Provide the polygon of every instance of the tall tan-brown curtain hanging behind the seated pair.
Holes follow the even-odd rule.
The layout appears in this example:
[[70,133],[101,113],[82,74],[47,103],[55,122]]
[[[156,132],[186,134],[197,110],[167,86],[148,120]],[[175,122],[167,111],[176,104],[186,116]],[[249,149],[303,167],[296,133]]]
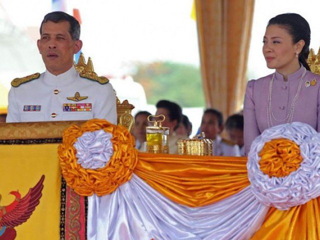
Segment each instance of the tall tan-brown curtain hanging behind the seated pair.
[[205,103],[227,116],[243,103],[254,0],[195,0]]

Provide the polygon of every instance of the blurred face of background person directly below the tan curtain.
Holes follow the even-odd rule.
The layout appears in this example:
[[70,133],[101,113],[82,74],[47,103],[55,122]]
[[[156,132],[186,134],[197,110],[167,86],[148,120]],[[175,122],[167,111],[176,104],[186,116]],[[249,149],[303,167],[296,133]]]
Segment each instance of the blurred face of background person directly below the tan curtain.
[[223,127],[219,126],[217,117],[212,113],[204,113],[201,120],[200,132],[204,132],[205,138],[214,140],[216,135],[222,131]]

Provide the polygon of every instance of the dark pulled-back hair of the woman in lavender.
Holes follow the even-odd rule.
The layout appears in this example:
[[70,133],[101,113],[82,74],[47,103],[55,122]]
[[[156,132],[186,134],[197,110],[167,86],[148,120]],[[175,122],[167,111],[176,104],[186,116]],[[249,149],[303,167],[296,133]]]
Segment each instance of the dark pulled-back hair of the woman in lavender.
[[309,65],[306,63],[306,59],[309,55],[310,46],[310,26],[309,23],[299,14],[296,13],[283,13],[272,17],[268,25],[280,25],[285,28],[292,36],[293,43],[297,43],[299,40],[304,40],[305,44],[299,53],[299,62],[307,69],[310,70]]

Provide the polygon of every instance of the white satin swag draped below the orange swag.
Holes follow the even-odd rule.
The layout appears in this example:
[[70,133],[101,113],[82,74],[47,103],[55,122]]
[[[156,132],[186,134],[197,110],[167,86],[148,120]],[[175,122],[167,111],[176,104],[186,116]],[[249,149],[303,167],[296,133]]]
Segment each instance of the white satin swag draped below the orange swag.
[[111,194],[88,197],[87,239],[247,239],[268,209],[250,187],[207,206],[180,205],[133,174]]

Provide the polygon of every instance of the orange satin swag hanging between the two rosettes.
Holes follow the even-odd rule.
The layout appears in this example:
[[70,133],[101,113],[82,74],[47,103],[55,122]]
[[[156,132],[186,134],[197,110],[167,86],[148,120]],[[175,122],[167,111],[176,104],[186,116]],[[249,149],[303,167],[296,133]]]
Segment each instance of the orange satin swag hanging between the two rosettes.
[[138,153],[134,173],[176,203],[208,205],[249,185],[246,157]]

